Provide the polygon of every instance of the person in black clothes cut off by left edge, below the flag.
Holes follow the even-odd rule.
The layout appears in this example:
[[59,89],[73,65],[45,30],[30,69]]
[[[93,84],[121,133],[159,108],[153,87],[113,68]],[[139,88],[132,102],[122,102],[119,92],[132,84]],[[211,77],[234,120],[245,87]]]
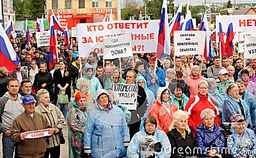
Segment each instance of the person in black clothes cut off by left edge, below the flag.
[[8,69],[2,66],[0,68],[0,97],[3,97],[5,92],[8,91],[8,80],[10,80],[10,77],[8,77]]

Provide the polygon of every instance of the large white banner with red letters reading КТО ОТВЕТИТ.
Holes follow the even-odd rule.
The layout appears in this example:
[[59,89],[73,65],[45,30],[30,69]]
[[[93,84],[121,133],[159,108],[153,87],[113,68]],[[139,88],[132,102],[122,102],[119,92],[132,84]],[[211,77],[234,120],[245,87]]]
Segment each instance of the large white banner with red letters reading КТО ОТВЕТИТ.
[[156,52],[158,20],[128,21],[77,24],[80,57],[88,57],[90,52],[103,55],[105,36],[120,36],[131,33],[133,53]]

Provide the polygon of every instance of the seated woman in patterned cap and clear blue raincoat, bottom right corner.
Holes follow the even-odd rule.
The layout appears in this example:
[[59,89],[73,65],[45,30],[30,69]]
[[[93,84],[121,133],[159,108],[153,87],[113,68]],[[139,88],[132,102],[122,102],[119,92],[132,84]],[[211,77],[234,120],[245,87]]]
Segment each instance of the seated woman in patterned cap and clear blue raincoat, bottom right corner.
[[232,151],[233,157],[256,157],[256,136],[255,133],[245,127],[244,116],[233,115],[231,122],[237,122],[236,127],[232,127],[232,135],[228,136],[227,147]]

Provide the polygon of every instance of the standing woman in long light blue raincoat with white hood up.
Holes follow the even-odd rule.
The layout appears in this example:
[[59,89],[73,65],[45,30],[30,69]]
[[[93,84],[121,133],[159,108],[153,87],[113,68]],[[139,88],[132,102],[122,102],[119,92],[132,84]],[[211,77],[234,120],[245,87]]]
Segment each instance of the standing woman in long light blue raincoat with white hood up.
[[84,152],[92,157],[125,157],[130,134],[123,111],[104,89],[95,94],[84,129]]

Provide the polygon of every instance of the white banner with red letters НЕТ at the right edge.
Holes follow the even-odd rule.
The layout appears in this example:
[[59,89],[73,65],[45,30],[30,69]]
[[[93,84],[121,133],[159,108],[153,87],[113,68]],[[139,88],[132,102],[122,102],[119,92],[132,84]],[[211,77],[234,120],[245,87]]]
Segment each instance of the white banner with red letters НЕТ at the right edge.
[[231,22],[234,32],[233,42],[238,42],[239,32],[255,32],[256,30],[256,15],[216,15],[216,32],[219,31],[219,22],[222,25],[224,41],[226,41],[228,25]]

